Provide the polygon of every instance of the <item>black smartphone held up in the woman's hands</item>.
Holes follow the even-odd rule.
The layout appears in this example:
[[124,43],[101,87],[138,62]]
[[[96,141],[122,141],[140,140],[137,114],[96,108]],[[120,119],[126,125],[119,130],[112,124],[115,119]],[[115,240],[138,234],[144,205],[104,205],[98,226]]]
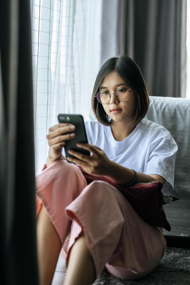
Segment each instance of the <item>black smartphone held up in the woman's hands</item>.
[[70,123],[75,125],[74,131],[69,132],[75,133],[75,137],[69,140],[65,140],[64,150],[66,158],[67,156],[75,157],[68,153],[69,149],[73,149],[77,152],[81,152],[90,156],[90,152],[87,149],[76,146],[77,143],[88,143],[83,116],[80,114],[59,114],[58,121],[59,123]]

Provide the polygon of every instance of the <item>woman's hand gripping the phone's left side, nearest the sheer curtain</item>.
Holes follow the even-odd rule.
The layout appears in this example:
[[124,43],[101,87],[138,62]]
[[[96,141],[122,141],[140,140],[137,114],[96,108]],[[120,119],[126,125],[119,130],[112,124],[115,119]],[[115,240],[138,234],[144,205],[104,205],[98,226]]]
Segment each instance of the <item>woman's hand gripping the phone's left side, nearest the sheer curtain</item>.
[[57,159],[61,155],[65,141],[75,137],[75,133],[71,136],[75,126],[73,129],[70,129],[71,126],[72,124],[69,123],[59,123],[49,129],[49,134],[46,137],[50,146],[49,156],[52,160]]

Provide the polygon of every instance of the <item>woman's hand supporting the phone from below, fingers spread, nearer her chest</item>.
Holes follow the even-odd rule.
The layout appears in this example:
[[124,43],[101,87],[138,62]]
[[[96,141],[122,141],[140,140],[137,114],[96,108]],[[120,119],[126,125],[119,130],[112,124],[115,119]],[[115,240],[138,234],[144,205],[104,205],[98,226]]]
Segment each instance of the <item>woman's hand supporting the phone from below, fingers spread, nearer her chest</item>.
[[88,156],[87,154],[82,154],[74,150],[69,150],[68,152],[72,156],[76,157],[73,158],[67,156],[67,159],[69,161],[80,165],[85,172],[94,176],[102,176],[107,175],[109,173],[109,165],[111,161],[105,155],[105,152],[103,152],[101,148],[90,143],[77,143],[76,146],[87,149],[89,152],[92,152],[92,156]]

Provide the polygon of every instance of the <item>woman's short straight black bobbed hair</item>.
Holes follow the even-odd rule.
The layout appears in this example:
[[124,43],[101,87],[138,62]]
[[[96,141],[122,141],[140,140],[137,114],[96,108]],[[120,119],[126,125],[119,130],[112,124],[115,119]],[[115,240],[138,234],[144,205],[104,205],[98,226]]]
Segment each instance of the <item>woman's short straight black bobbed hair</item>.
[[116,71],[124,82],[134,90],[137,95],[137,109],[134,113],[132,124],[137,124],[145,117],[150,105],[148,90],[142,75],[142,72],[132,58],[125,54],[109,58],[100,68],[96,81],[94,83],[91,106],[98,122],[105,126],[111,125],[109,116],[105,113],[101,103],[98,102],[95,95],[99,91],[104,77],[112,71]]

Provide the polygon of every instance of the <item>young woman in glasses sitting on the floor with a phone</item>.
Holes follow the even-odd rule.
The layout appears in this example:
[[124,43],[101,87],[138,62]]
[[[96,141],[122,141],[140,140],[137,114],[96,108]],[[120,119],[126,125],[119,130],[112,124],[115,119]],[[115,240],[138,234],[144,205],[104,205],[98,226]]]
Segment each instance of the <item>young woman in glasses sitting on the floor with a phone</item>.
[[144,119],[148,107],[138,65],[120,55],[102,65],[94,84],[96,121],[85,122],[89,144],[78,145],[92,156],[70,152],[75,158],[67,157],[68,163],[62,147],[75,127],[62,123],[49,129],[47,168],[36,176],[41,284],[51,284],[60,251],[67,265],[64,285],[92,284],[104,268],[137,279],[163,257],[162,228],[142,220],[109,183],[87,185],[80,170],[119,184],[161,180],[163,187],[173,187],[178,147],[169,131]]

